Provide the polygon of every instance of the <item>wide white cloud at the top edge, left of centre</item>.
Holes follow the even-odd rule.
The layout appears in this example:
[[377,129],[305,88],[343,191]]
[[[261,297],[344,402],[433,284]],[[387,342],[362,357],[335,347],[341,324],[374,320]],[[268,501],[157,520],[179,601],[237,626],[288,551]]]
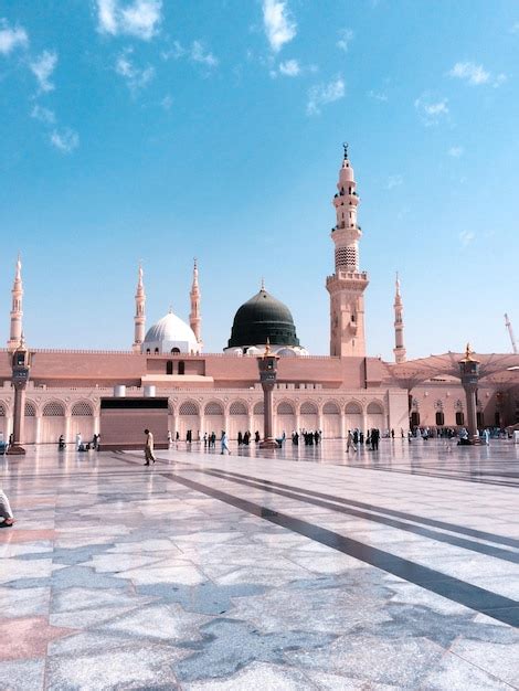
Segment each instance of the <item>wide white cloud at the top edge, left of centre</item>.
[[97,0],[98,30],[113,36],[129,35],[149,41],[162,21],[162,0]]

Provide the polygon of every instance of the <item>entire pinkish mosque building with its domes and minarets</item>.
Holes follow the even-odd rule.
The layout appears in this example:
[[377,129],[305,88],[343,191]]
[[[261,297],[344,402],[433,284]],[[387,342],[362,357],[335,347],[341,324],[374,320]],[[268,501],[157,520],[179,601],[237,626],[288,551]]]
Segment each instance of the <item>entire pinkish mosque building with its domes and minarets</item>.
[[[264,398],[257,357],[279,357],[274,391],[274,432],[320,429],[339,438],[348,429],[393,428],[396,436],[416,425],[465,424],[466,398],[459,381],[460,353],[407,361],[400,279],[394,297],[394,362],[367,354],[364,291],[360,268],[362,231],[359,195],[345,147],[331,230],[335,270],[326,279],[330,296],[330,353],[311,355],[300,343],[289,308],[262,284],[236,311],[221,353],[203,353],[199,267],[193,267],[189,323],[170,308],[146,329],[146,289],[139,267],[135,294],[134,342],[126,352],[28,348],[32,354],[24,405],[24,444],[55,444],[77,432],[87,439],[99,430],[100,398],[115,389],[127,397],[157,392],[168,398],[168,426],[182,439],[204,432],[263,430]],[[10,336],[0,351],[0,434],[12,430],[14,394],[11,357],[23,339],[23,283],[20,257],[12,287]],[[230,325],[231,326],[231,325]],[[478,425],[519,421],[519,355],[478,354]]]

